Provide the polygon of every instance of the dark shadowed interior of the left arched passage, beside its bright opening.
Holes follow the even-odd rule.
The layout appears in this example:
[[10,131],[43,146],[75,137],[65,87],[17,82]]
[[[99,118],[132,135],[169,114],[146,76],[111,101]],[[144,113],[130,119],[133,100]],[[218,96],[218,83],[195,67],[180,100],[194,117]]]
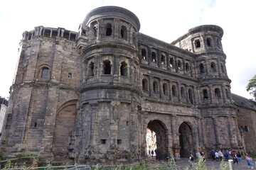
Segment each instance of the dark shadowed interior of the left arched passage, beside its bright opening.
[[156,146],[154,148],[156,148],[156,159],[166,160],[168,157],[166,125],[160,120],[152,120],[149,122],[147,128],[155,133]]

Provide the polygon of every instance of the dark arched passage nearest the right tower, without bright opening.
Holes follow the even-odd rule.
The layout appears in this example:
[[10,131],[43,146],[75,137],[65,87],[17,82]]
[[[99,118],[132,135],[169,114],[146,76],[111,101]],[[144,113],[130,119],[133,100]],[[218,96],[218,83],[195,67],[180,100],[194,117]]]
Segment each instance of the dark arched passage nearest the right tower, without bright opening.
[[180,142],[180,155],[181,157],[189,157],[193,154],[193,135],[191,127],[188,123],[181,123],[178,128],[179,142]]

